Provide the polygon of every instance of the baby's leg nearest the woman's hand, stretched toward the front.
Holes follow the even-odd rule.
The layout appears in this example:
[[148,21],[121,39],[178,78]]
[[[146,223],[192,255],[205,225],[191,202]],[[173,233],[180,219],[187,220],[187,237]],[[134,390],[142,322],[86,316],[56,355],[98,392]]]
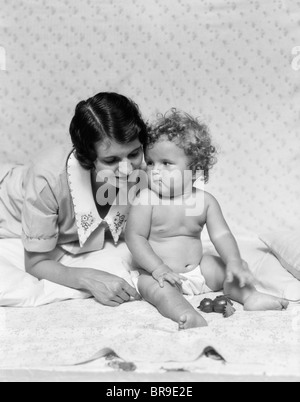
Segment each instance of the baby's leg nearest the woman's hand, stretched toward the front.
[[161,288],[152,276],[142,274],[138,280],[138,288],[142,297],[154,305],[164,317],[178,323],[179,330],[207,326],[205,319],[184,298],[179,289],[168,282]]

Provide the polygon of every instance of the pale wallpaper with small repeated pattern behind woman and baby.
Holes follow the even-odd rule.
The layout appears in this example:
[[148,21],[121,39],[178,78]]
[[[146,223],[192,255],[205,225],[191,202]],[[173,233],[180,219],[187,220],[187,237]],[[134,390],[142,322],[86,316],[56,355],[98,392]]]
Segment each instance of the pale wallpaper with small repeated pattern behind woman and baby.
[[117,91],[210,125],[230,223],[299,228],[299,21],[299,0],[0,0],[0,161],[66,143],[76,103]]

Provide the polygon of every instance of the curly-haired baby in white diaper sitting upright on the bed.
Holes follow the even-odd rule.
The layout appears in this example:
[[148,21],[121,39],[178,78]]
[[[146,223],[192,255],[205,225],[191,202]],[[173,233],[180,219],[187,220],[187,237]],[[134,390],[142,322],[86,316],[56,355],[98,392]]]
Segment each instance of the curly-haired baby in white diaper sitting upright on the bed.
[[[286,309],[286,300],[255,289],[217,200],[195,186],[200,173],[208,181],[215,163],[207,127],[171,110],[152,126],[145,161],[149,188],[138,195],[126,227],[142,297],[180,330],[207,325],[184,295],[224,289],[245,310]],[[203,254],[205,225],[221,258]]]

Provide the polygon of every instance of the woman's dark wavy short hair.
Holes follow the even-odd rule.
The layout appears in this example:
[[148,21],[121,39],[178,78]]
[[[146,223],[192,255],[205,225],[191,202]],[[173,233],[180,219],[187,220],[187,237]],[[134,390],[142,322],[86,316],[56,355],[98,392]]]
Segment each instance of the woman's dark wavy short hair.
[[76,158],[85,169],[92,169],[97,159],[95,144],[105,138],[128,144],[147,140],[147,126],[138,106],[116,93],[103,92],[76,106],[70,125]]

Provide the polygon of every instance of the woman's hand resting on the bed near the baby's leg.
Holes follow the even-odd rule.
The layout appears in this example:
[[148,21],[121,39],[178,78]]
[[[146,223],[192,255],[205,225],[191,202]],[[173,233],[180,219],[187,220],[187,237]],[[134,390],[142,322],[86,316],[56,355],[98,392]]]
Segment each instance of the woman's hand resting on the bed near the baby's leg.
[[87,270],[82,279],[84,289],[88,290],[95,299],[110,307],[117,307],[133,300],[141,300],[138,292],[124,279],[103,271]]

